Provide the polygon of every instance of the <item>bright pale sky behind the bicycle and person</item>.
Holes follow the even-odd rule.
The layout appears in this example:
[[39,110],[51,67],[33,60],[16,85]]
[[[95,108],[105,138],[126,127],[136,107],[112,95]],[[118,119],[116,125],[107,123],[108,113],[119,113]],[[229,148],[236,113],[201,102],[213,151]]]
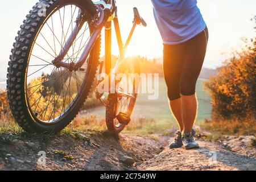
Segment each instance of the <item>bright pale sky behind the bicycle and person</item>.
[[[1,2],[1,43],[0,65],[5,67],[9,60],[16,32],[22,20],[37,0],[9,0]],[[162,57],[163,44],[156,27],[150,0],[117,0],[119,23],[122,37],[129,34],[133,20],[133,7],[138,7],[146,20],[146,28],[140,26],[135,30],[133,39],[127,49],[127,56],[146,56],[150,59]],[[242,37],[255,36],[254,24],[250,21],[256,15],[255,0],[198,0],[198,6],[209,29],[208,51],[204,67],[219,67],[225,59],[223,52],[238,49],[242,45]],[[116,40],[113,36],[113,41]],[[118,53],[117,44],[113,45],[113,53]],[[102,52],[104,55],[104,52]]]

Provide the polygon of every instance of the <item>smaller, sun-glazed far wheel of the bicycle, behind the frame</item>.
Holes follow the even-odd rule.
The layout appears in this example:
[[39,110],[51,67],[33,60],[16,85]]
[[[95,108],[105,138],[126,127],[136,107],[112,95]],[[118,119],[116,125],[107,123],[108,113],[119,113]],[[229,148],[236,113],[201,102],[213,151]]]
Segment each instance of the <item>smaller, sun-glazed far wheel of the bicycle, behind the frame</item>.
[[115,88],[123,94],[110,93],[106,106],[106,125],[114,135],[121,133],[130,122],[139,89],[139,74],[140,66],[137,60],[129,63],[125,61],[119,67]]

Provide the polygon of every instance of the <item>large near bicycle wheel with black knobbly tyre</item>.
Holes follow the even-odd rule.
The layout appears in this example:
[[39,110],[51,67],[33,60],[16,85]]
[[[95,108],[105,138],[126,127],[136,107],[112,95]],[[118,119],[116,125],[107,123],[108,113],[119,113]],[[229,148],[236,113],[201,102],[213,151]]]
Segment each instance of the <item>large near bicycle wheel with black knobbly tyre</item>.
[[[87,1],[43,0],[33,7],[20,26],[10,56],[7,93],[16,122],[30,133],[64,129],[79,112],[93,85],[100,59],[98,38],[89,59],[78,71],[52,64],[75,24],[85,23],[63,61],[76,63],[93,28]],[[82,14],[84,18],[78,16]]]

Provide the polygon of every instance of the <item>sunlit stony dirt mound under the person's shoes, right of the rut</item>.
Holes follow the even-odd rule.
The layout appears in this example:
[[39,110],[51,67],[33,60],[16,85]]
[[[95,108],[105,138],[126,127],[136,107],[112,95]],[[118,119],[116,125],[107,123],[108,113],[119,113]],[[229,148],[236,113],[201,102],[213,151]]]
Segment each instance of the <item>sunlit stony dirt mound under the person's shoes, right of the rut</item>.
[[[253,156],[237,154],[212,142],[199,141],[197,150],[166,147],[159,155],[137,167],[139,170],[256,170]],[[254,148],[255,150],[255,148]]]

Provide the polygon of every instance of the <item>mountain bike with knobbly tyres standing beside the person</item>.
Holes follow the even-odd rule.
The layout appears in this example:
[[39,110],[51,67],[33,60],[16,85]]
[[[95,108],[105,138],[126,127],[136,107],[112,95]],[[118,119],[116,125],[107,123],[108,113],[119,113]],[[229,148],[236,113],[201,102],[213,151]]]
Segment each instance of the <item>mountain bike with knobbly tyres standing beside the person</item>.
[[[112,22],[120,53],[113,71]],[[117,80],[110,75],[139,73],[139,63],[123,61],[138,24],[147,26],[134,8],[133,27],[123,46],[114,0],[40,0],[36,3],[20,26],[7,71],[10,109],[19,126],[28,133],[63,130],[79,113],[105,65],[109,77],[98,80],[97,85],[108,79],[107,103],[101,99],[104,93],[96,91],[96,96],[106,106],[108,130],[120,133],[130,122],[138,83],[129,81],[132,89],[123,92],[124,79]],[[105,60],[100,61],[104,27]]]

